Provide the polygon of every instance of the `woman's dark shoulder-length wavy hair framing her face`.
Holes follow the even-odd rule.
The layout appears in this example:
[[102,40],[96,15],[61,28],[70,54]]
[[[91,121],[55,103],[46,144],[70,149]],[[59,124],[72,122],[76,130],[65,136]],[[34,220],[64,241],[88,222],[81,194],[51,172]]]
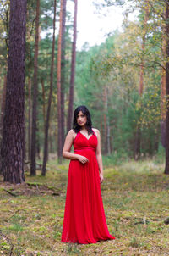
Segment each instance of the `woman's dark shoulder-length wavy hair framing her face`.
[[87,117],[87,122],[86,122],[86,129],[88,131],[88,134],[93,134],[92,131],[92,122],[91,122],[91,117],[90,117],[90,111],[85,107],[85,106],[79,106],[74,110],[74,123],[73,123],[73,129],[76,133],[80,131],[80,125],[77,123],[77,118],[79,111],[81,111],[85,116]]

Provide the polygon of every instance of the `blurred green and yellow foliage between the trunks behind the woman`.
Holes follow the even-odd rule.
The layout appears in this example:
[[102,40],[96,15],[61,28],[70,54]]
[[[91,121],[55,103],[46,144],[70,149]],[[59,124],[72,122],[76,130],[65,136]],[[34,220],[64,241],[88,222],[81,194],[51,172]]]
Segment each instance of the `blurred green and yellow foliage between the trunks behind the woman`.
[[[95,1],[93,1],[95,2]],[[9,1],[0,2],[0,92],[3,95],[3,79],[7,70]],[[59,6],[57,1],[57,29],[55,69],[52,94],[52,112],[49,132],[50,151],[57,151],[57,34]],[[85,43],[77,52],[74,108],[85,104],[91,112],[93,126],[101,131],[101,150],[107,151],[107,133],[110,131],[110,157],[117,162],[121,156],[134,156],[137,131],[141,132],[142,156],[154,155],[160,145],[161,122],[161,66],[166,62],[162,51],[164,41],[165,2],[143,0],[104,0],[95,3],[102,9],[123,5],[125,15],[123,31],[112,31],[100,46],[89,47]],[[28,84],[33,78],[35,47],[35,1],[27,3],[26,30],[26,78],[25,78],[25,127],[28,127]],[[138,19],[130,21],[128,13],[138,10]],[[148,22],[144,18],[148,14]],[[52,54],[53,1],[41,1],[41,40],[38,58],[38,141],[43,150],[44,112],[50,87]],[[65,113],[68,110],[70,61],[72,48],[73,17],[67,10],[66,63],[65,63]],[[143,41],[144,50],[143,50]],[[144,62],[144,92],[139,97],[140,66]],[[30,80],[30,81],[29,81]],[[44,82],[45,95],[41,81]],[[0,103],[2,103],[2,98]],[[67,114],[65,114],[65,120]],[[27,133],[27,130],[26,130]],[[54,139],[53,139],[54,138]]]

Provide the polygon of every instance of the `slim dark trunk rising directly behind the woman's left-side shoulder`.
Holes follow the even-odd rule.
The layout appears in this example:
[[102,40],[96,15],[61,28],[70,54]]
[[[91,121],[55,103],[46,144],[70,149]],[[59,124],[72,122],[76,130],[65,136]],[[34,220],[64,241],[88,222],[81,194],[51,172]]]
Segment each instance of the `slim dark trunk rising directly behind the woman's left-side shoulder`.
[[73,120],[74,75],[75,75],[75,63],[76,63],[76,38],[77,38],[77,10],[78,10],[78,0],[74,0],[74,41],[72,45],[72,63],[71,63],[70,89],[69,89],[67,131],[71,129],[72,120]]

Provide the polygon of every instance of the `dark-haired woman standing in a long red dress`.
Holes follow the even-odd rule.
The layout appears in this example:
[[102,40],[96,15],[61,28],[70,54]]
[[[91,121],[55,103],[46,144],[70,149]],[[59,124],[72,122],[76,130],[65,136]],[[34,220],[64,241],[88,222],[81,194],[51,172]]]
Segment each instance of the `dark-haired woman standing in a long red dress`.
[[[68,131],[63,157],[71,159],[63,221],[63,242],[95,243],[115,239],[109,234],[101,198],[103,167],[101,137],[92,129],[85,106],[74,110],[74,126]],[[74,153],[70,149],[74,145]]]

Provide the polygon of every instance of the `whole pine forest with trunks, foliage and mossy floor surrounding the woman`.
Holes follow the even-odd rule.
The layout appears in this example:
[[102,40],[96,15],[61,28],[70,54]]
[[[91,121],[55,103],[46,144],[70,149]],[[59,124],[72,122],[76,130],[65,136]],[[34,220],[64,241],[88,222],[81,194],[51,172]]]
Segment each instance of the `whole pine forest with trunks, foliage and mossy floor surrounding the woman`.
[[[169,1],[93,0],[123,8],[123,27],[80,50],[79,1],[0,0],[0,255],[168,255]],[[101,132],[117,237],[88,246],[60,242],[79,105]]]

